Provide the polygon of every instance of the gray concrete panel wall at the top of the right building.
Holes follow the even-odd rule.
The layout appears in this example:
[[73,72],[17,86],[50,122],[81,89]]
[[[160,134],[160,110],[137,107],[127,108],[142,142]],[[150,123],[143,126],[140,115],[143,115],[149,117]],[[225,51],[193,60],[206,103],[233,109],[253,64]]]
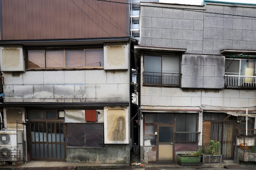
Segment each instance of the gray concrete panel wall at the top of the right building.
[[221,55],[223,49],[255,50],[255,6],[206,3],[198,9],[168,7],[141,7],[141,46],[185,48],[186,53],[211,55]]

